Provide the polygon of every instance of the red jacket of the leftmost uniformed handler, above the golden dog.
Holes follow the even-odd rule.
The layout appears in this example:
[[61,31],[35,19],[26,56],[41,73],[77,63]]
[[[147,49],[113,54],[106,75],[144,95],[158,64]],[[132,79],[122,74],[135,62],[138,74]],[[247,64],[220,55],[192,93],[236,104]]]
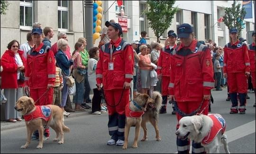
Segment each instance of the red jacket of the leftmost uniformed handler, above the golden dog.
[[31,89],[47,88],[55,82],[55,58],[49,46],[43,43],[27,52],[26,84]]

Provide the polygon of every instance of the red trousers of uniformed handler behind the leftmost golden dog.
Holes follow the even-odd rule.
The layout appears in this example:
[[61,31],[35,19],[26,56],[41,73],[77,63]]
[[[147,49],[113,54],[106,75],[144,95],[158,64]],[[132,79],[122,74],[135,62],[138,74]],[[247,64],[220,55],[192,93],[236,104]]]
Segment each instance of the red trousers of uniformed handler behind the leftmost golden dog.
[[46,90],[47,88],[30,89],[30,97],[35,101],[35,105],[53,104],[53,88],[49,88],[47,92]]

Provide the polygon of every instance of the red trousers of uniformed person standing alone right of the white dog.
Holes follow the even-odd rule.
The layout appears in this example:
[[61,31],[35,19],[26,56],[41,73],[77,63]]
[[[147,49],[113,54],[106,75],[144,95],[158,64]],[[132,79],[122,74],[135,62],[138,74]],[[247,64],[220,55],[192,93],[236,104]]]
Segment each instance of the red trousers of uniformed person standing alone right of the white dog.
[[245,72],[228,73],[228,86],[230,93],[247,93],[247,77]]

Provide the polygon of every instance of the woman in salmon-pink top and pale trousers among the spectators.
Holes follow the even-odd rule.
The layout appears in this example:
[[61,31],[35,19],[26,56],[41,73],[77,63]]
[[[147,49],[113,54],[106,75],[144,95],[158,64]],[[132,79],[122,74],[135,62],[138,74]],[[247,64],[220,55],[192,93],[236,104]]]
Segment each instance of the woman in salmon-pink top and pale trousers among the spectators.
[[147,46],[143,44],[139,46],[139,50],[141,52],[139,55],[140,61],[138,63],[142,86],[141,93],[146,94],[150,86],[150,70],[152,70],[152,66],[150,65],[151,60],[149,54],[147,54]]

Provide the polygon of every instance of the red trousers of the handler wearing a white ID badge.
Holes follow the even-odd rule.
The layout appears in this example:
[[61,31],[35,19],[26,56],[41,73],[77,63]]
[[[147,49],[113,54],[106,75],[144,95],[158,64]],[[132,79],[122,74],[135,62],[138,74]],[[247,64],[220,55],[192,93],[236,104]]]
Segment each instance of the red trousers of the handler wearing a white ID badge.
[[[123,95],[122,94],[123,92]],[[129,103],[129,89],[115,89],[115,90],[105,90],[104,96],[106,99],[106,104],[109,110],[109,115],[113,115],[114,113],[118,113],[119,115],[125,114],[125,106]],[[120,101],[120,97],[121,101]],[[120,103],[119,103],[120,101]],[[119,103],[119,104],[118,104]],[[118,104],[118,105],[117,105]],[[112,107],[111,107],[111,106]]]

